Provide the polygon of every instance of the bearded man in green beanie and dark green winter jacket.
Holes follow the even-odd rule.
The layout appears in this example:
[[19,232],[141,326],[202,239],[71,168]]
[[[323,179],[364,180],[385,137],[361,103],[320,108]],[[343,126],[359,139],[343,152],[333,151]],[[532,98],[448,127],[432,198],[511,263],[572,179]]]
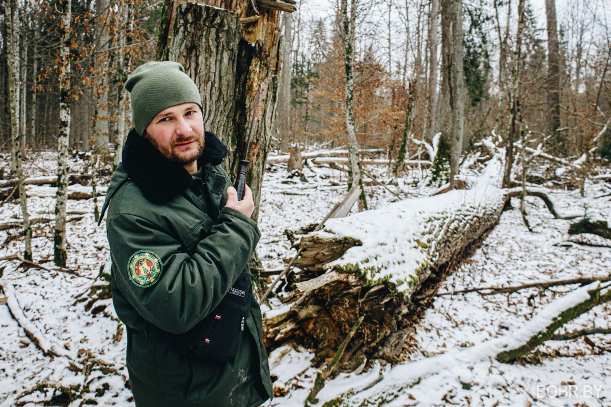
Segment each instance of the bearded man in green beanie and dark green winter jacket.
[[102,217],[108,208],[136,406],[259,406],[272,385],[246,265],[260,238],[251,190],[238,202],[219,166],[227,149],[204,131],[199,89],[180,64],[141,65],[125,89],[134,129]]

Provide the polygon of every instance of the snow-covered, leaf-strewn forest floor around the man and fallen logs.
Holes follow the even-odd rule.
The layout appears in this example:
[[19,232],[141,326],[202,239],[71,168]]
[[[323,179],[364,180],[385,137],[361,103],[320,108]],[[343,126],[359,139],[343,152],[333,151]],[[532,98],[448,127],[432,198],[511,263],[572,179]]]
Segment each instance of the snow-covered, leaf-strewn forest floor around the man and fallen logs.
[[[38,156],[27,175],[53,175],[53,161],[53,153]],[[376,177],[386,174],[382,167],[370,167],[369,171]],[[70,172],[84,172],[82,161],[74,161]],[[324,167],[305,167],[304,174],[308,182],[288,179],[282,165],[273,166],[272,171],[265,174],[259,214],[263,236],[257,247],[265,268],[278,268],[282,266],[284,257],[293,255],[294,249],[283,235],[287,227],[320,221],[346,193],[345,173]],[[419,171],[414,170],[413,175],[419,176]],[[340,181],[342,185],[331,185],[331,180]],[[407,178],[403,181],[409,182]],[[365,188],[370,208],[381,208],[397,200],[380,186]],[[389,188],[402,195],[395,186]],[[433,190],[406,185],[401,185],[401,189],[411,194],[409,197],[430,194]],[[609,193],[609,188],[601,182],[588,184],[585,191],[586,196],[581,197],[577,190],[556,190],[551,197],[560,210],[585,210],[592,218],[611,221],[610,197],[596,198]],[[100,206],[103,199],[98,197]],[[440,292],[610,274],[611,248],[568,242],[569,221],[554,219],[543,203],[534,197],[527,198],[529,221],[533,227],[533,233],[529,233],[517,209],[518,200],[513,199],[513,204],[514,208],[503,213],[499,224],[480,247],[442,283]],[[31,216],[53,213],[54,197],[31,197],[28,205]],[[55,358],[44,356],[9,314],[8,307],[0,306],[0,335],[3,339],[0,342],[0,406],[15,403],[35,406],[43,400],[50,400],[52,390],[46,395],[33,392],[16,400],[21,392],[45,383],[58,389],[61,386],[55,392],[54,401],[46,405],[79,406],[82,403],[93,404],[93,400],[97,405],[133,405],[126,387],[126,338],[112,308],[112,299],[92,303],[89,296],[92,284],[104,283],[104,277],[98,277],[100,266],[105,265],[105,270],[109,271],[104,222],[103,226],[95,225],[93,200],[70,200],[70,210],[90,211],[81,220],[68,224],[68,269],[81,277],[35,268],[16,269],[17,262],[0,262],[0,270],[4,268],[0,284],[10,288],[10,295],[15,297],[27,320],[57,350],[66,354]],[[19,213],[16,202],[7,203],[2,207],[0,222],[18,218]],[[38,216],[52,215],[35,215]],[[21,251],[23,243],[15,238],[17,233],[18,230],[0,232],[0,257]],[[32,244],[35,262],[47,266],[52,264],[52,236],[52,223],[35,226]],[[585,239],[589,243],[609,244],[602,238],[585,236]],[[533,288],[511,295],[468,293],[437,297],[408,343],[403,367],[413,363],[414,369],[420,369],[422,364],[415,362],[431,358],[431,364],[434,364],[435,355],[458,353],[507,335],[524,325],[552,299],[574,288],[576,286],[565,286],[544,292]],[[87,301],[76,302],[77,297]],[[280,301],[272,299],[271,304],[276,308]],[[266,309],[264,307],[264,311]],[[571,331],[593,326],[611,328],[611,304],[596,307],[563,329]],[[316,376],[316,370],[310,366],[311,357],[312,354],[306,350],[291,347],[278,348],[271,353],[274,385],[287,393],[267,405],[304,405]],[[438,372],[423,375],[422,380],[404,386],[403,391],[382,404],[611,406],[610,366],[609,335],[546,342],[536,348],[528,360],[519,364],[502,364],[490,358],[467,359],[452,369],[439,364]],[[353,393],[380,380],[400,381],[404,372],[398,369],[400,367],[373,362],[360,375],[340,373],[328,381],[318,395],[320,404],[341,397],[344,399],[342,403],[353,405]],[[537,397],[538,390],[541,390],[538,385],[546,387],[546,397]],[[568,385],[577,386],[577,394],[571,398],[551,397],[554,388],[548,386]],[[583,396],[587,386],[596,386],[594,397],[574,398],[575,395]],[[599,389],[598,394],[596,389]]]

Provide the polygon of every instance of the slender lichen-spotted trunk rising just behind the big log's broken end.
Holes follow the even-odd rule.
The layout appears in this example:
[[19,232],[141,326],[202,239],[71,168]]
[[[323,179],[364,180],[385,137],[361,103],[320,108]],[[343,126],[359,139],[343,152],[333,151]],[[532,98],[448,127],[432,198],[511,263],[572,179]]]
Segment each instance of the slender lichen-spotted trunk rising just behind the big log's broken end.
[[354,125],[354,45],[356,29],[356,4],[357,0],[351,0],[350,13],[348,15],[348,0],[342,0],[342,42],[344,48],[344,71],[345,71],[345,111],[346,131],[348,133],[348,160],[350,161],[350,172],[348,173],[348,190],[353,184],[360,186],[359,210],[367,209],[365,190],[363,189],[362,177],[359,167],[359,143],[356,139],[356,127]]

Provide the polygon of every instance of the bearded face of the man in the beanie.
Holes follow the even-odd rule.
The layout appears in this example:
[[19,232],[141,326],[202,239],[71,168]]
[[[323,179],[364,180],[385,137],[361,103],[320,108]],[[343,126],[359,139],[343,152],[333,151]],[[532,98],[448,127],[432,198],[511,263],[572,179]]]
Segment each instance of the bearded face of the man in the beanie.
[[170,106],[148,124],[144,138],[170,161],[193,163],[203,152],[202,110],[196,103]]

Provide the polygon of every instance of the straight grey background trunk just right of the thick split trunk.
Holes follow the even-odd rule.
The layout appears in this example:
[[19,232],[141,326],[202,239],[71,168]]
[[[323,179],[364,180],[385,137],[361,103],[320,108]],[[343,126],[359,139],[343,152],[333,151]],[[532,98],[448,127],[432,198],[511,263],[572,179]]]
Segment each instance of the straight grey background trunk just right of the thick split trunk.
[[276,122],[280,133],[279,141],[284,144],[284,141],[290,137],[291,130],[291,28],[293,18],[290,14],[285,14],[282,18],[284,20],[284,36],[282,37],[282,68]]

